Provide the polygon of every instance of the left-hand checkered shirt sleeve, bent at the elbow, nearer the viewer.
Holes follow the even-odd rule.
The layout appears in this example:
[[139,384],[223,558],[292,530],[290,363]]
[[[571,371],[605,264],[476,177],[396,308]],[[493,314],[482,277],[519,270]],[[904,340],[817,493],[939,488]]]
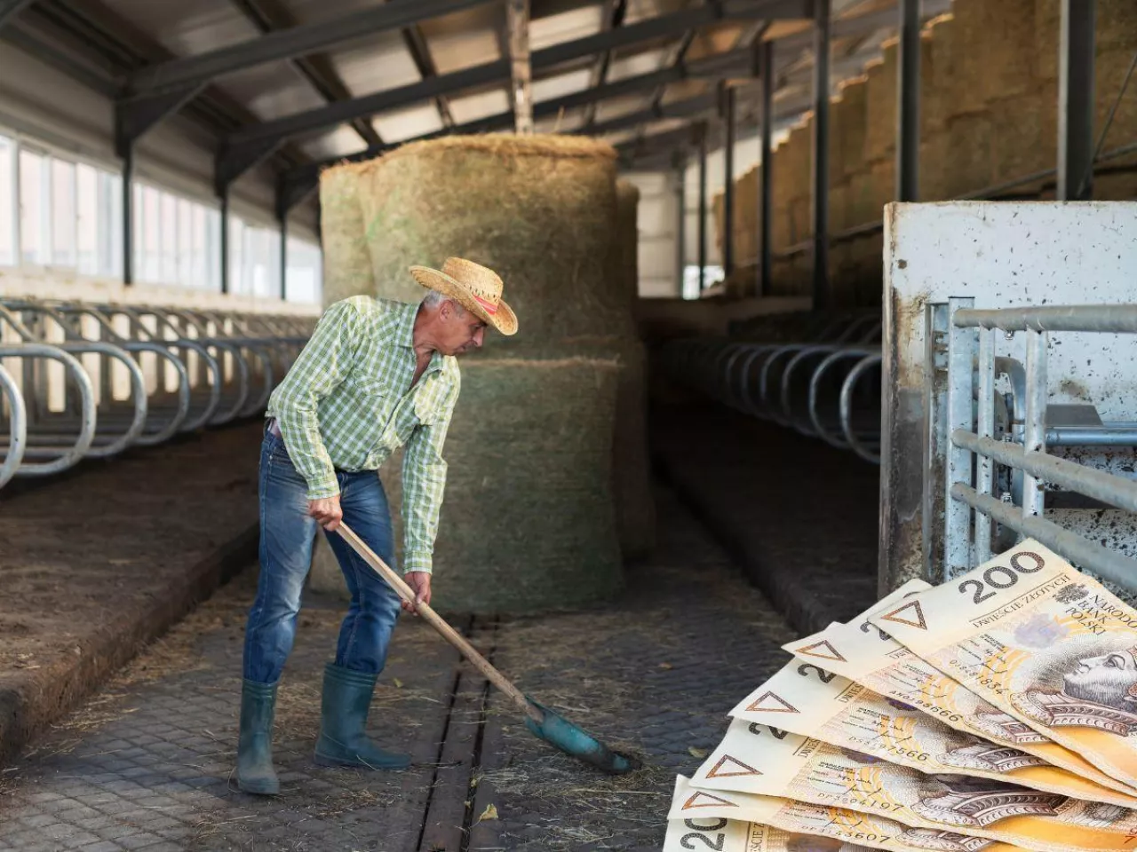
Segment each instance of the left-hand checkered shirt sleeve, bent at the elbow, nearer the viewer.
[[308,500],[340,493],[335,466],[319,435],[317,407],[347,377],[360,323],[350,302],[330,307],[273,394],[272,412],[292,465],[308,483]]

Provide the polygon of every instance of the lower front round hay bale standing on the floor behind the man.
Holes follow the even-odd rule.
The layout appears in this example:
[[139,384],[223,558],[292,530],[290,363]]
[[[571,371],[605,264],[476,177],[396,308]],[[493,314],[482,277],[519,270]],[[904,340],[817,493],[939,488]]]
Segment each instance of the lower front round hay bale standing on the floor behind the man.
[[[611,484],[619,370],[613,359],[463,358],[434,548],[440,610],[541,612],[621,586]],[[392,461],[382,475],[393,510]]]

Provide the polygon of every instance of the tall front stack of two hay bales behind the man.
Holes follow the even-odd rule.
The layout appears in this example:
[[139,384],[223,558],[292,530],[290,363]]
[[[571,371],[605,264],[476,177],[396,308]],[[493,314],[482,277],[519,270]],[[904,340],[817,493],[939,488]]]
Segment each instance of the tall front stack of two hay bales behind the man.
[[[462,359],[435,603],[532,612],[609,596],[621,583],[613,490],[630,491],[630,477],[614,476],[614,443],[642,450],[641,434],[614,438],[617,409],[622,429],[631,419],[629,386],[642,387],[614,150],[583,137],[448,137],[405,145],[355,177],[371,260],[359,292],[417,301],[407,267],[458,256],[497,270],[521,318],[516,337],[490,334]],[[646,461],[633,461],[646,481]],[[382,471],[396,517],[400,475],[397,463]]]

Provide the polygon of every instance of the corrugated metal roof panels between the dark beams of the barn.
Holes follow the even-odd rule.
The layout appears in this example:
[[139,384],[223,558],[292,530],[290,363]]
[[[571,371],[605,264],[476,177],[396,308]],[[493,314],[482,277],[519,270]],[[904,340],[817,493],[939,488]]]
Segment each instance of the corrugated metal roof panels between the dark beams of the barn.
[[[91,0],[96,2],[96,0]],[[174,57],[191,57],[257,39],[266,28],[310,25],[342,18],[352,12],[379,9],[383,0],[97,0],[118,18]],[[408,6],[410,0],[392,0]],[[926,12],[949,0],[924,0]],[[833,0],[835,17],[875,15],[895,0]],[[661,15],[705,5],[705,0],[626,0],[622,25],[633,26]],[[530,42],[533,51],[594,36],[619,22],[615,0],[532,0]],[[929,7],[936,7],[930,9]],[[34,8],[34,7],[33,7]],[[615,15],[614,15],[615,10]],[[268,22],[268,23],[266,23]],[[281,22],[284,22],[283,24]],[[606,57],[582,56],[557,67],[534,68],[533,100],[555,103],[576,95],[591,85],[616,83],[652,74],[675,61],[697,62],[707,57],[747,47],[758,36],[762,22],[727,20],[698,27],[694,33],[673,32],[611,51]],[[879,55],[880,41],[890,30],[862,32],[835,41],[835,68],[855,68]],[[785,76],[779,102],[791,102],[807,87],[810,53],[807,20],[773,22],[761,37],[792,36],[778,52]],[[499,1],[483,2],[460,11],[422,20],[404,31],[362,33],[335,44],[322,56],[317,68],[308,57],[275,60],[218,77],[216,91],[242,105],[258,120],[318,110],[330,100],[360,98],[408,86],[432,74],[456,74],[505,57],[505,12]],[[603,72],[603,74],[601,74]],[[735,72],[731,70],[733,74]],[[745,77],[745,62],[738,75]],[[647,110],[653,103],[671,105],[714,91],[715,81],[689,78],[583,108],[547,115],[537,123],[539,132],[579,131],[586,123],[604,123]],[[374,141],[397,143],[443,131],[455,124],[479,122],[508,114],[511,94],[506,80],[482,81],[480,85],[435,98],[408,102],[375,116],[362,116],[356,130],[345,124],[298,139],[299,150],[315,160],[355,153]],[[696,116],[697,117],[697,116]],[[613,139],[626,141],[636,134],[673,130],[691,117],[649,122],[638,128],[621,128]]]

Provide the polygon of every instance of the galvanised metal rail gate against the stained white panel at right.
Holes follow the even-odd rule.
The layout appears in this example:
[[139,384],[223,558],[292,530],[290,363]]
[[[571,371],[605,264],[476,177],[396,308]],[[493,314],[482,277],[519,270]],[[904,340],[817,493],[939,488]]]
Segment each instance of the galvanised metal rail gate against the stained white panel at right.
[[[1021,411],[1009,410],[996,392],[997,374],[1009,373],[1014,364],[995,357],[999,332],[1009,340],[1026,335],[1024,375],[1012,377],[1019,403],[1012,406]],[[923,544],[924,563],[938,574],[933,580],[948,580],[989,560],[996,521],[1110,583],[1137,591],[1137,560],[1044,517],[1048,484],[1137,512],[1137,481],[1047,453],[1048,440],[1061,446],[1137,444],[1132,423],[1054,423],[1070,408],[1047,406],[1048,342],[1056,332],[1137,334],[1137,306],[978,310],[971,298],[926,306]],[[996,466],[1004,468],[998,488]],[[1020,477],[1021,487],[1010,484],[1009,474]]]

